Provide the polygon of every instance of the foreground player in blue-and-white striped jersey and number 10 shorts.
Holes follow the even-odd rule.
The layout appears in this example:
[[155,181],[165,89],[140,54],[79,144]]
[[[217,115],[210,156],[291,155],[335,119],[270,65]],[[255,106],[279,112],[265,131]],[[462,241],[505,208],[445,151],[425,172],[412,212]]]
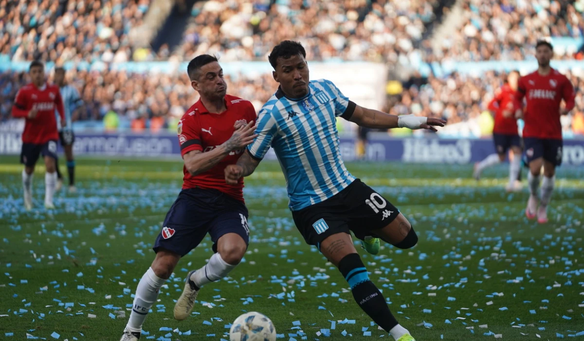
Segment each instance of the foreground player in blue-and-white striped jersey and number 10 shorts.
[[[309,80],[300,43],[283,41],[269,56],[280,87],[258,116],[258,137],[246,153],[225,168],[235,184],[253,173],[273,147],[286,177],[290,210],[308,244],[316,245],[349,283],[360,308],[398,341],[413,341],[398,324],[353,246],[352,231],[371,254],[383,239],[398,248],[416,245],[418,236],[389,201],[347,171],[339,150],[335,119],[368,128],[430,129],[442,119],[395,116],[357,106],[328,80]],[[358,73],[355,74],[359,76]]]

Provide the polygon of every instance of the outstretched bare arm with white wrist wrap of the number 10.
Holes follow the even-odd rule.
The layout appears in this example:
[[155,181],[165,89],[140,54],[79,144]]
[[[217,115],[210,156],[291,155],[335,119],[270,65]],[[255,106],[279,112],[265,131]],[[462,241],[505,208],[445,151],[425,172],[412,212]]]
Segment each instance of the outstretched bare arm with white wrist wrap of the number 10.
[[437,131],[434,126],[444,126],[446,124],[444,119],[418,117],[412,114],[396,116],[361,106],[355,107],[349,121],[374,129],[409,128],[412,130],[429,129],[431,131]]

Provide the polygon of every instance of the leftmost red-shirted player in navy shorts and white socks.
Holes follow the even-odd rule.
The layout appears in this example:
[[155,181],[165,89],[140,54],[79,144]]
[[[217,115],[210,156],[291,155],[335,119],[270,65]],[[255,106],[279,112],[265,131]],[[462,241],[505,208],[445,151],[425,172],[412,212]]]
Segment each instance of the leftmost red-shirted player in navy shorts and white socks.
[[29,67],[29,75],[32,83],[23,86],[18,91],[12,107],[13,117],[26,119],[20,152],[20,162],[25,165],[22,171],[25,208],[31,210],[33,207],[34,165],[42,154],[46,167],[44,206],[47,209],[54,209],[53,194],[55,184],[57,184],[55,160],[57,160],[57,139],[59,138],[55,109],[61,116],[61,125],[65,126],[63,101],[59,87],[45,82],[43,63],[33,61]]

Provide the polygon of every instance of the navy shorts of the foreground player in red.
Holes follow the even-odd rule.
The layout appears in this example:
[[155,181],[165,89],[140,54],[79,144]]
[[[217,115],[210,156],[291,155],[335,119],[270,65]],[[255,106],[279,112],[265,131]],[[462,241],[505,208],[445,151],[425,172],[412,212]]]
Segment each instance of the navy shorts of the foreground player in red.
[[241,235],[248,245],[248,209],[243,202],[215,189],[183,189],[166,213],[153,249],[158,252],[163,248],[184,256],[207,233],[211,235],[214,252],[217,240],[227,233]]

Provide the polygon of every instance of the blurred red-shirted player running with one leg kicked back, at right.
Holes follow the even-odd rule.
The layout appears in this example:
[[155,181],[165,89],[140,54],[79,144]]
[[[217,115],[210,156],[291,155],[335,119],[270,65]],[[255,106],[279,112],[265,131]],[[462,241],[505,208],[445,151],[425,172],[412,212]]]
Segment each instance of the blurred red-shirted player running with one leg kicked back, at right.
[[493,127],[493,141],[495,142],[495,154],[487,156],[481,162],[475,164],[473,176],[479,180],[481,172],[489,166],[505,161],[509,149],[513,151],[513,159],[509,160],[509,184],[508,192],[521,189],[519,172],[521,171],[521,138],[517,128],[515,112],[519,109],[516,101],[517,82],[519,72],[512,71],[507,75],[507,80],[495,97],[489,103],[489,110],[495,113],[495,126]]

